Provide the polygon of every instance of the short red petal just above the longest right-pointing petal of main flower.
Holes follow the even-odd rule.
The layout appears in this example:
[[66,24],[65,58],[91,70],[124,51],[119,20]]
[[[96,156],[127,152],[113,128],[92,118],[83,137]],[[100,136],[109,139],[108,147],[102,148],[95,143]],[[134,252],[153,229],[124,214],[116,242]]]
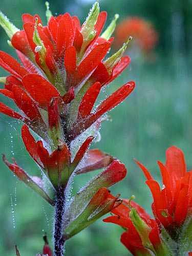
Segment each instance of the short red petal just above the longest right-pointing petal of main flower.
[[100,82],[96,82],[92,84],[92,86],[87,90],[79,105],[78,118],[84,118],[91,114],[95,101],[99,95],[100,89]]

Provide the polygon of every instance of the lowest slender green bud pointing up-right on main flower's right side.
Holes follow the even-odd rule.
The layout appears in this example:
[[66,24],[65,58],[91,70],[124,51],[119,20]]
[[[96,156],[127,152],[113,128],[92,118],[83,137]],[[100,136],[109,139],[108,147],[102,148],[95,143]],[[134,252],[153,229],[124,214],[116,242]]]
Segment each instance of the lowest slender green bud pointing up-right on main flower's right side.
[[123,56],[123,53],[125,52],[127,45],[129,44],[129,42],[132,40],[132,36],[130,36],[126,42],[124,42],[123,46],[116,52],[114,53],[111,57],[109,57],[108,59],[106,59],[104,61],[104,66],[105,68],[108,70],[109,73],[112,72],[113,68],[115,67],[115,65],[119,62],[119,60],[121,59],[121,57]]

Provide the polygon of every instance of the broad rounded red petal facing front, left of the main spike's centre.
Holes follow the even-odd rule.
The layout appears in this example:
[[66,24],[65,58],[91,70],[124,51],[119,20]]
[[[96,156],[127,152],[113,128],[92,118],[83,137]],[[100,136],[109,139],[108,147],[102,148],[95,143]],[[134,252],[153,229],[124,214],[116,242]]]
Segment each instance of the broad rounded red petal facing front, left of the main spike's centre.
[[42,107],[48,106],[53,97],[59,97],[58,91],[44,77],[29,74],[23,78],[25,89],[32,98]]

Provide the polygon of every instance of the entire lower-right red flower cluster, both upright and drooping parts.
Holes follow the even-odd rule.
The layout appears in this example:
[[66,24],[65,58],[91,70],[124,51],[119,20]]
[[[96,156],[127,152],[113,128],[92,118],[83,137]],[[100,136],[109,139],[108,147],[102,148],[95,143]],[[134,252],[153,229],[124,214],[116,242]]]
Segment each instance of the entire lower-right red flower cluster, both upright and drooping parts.
[[147,179],[154,202],[155,219],[131,200],[112,210],[104,219],[126,229],[121,242],[133,255],[191,255],[191,174],[187,172],[183,152],[172,146],[166,151],[165,165],[158,161],[163,187],[136,161]]

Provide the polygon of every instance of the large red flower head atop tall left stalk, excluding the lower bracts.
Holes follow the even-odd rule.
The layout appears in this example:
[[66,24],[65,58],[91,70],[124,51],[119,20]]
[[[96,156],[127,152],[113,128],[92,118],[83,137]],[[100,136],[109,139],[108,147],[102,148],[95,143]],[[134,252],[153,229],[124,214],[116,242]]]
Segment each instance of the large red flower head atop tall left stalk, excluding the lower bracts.
[[53,98],[59,98],[57,112],[62,123],[68,119],[65,129],[73,140],[134,90],[134,82],[126,83],[93,111],[101,87],[114,80],[131,61],[128,56],[122,57],[125,46],[118,56],[104,60],[112,44],[111,39],[99,37],[106,12],[98,13],[94,20],[88,18],[82,26],[69,13],[52,16],[47,26],[42,25],[38,15],[23,14],[22,18],[24,29],[11,37],[22,65],[0,51],[0,66],[11,74],[0,93],[11,98],[24,115],[3,103],[0,112],[23,120],[46,140],[46,112]]

